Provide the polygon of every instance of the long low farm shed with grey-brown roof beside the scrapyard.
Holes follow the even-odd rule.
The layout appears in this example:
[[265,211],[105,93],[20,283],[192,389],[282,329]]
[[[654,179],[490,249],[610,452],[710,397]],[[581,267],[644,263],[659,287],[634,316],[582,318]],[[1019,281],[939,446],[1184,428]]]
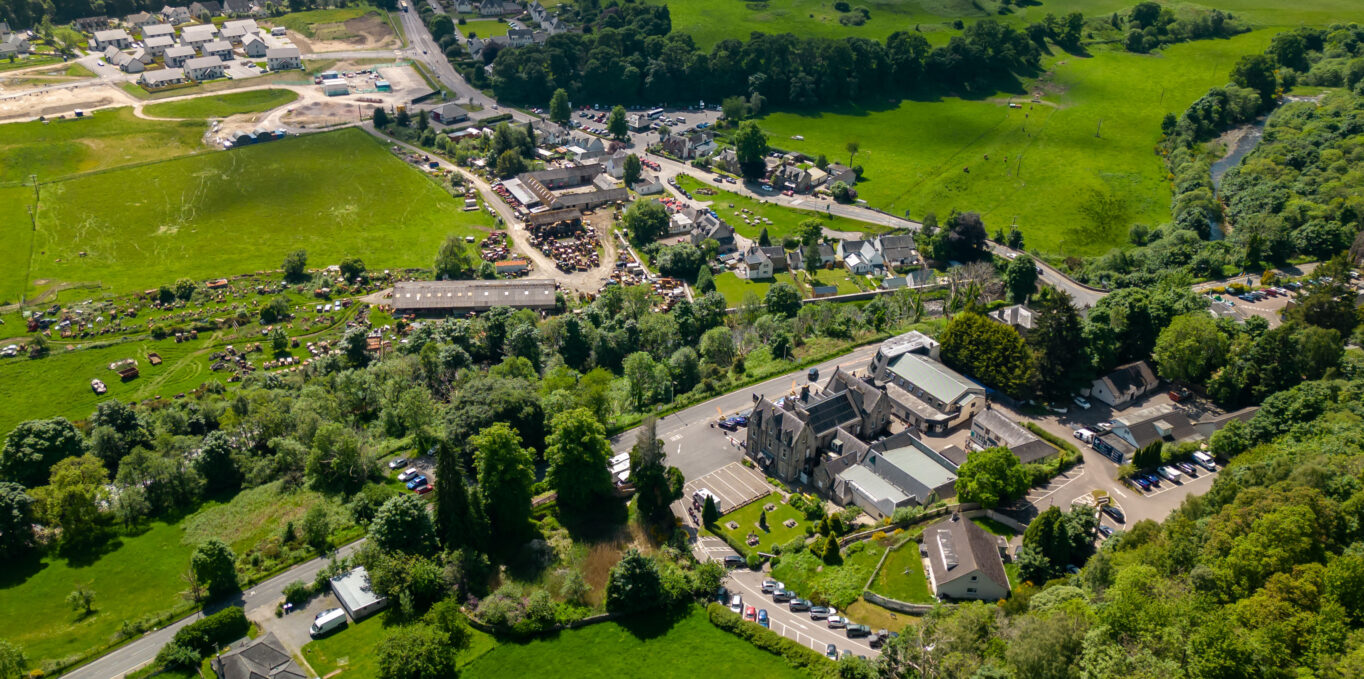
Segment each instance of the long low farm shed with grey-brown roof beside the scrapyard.
[[548,311],[555,304],[554,281],[415,281],[393,288],[397,314],[446,315],[487,311],[494,307]]

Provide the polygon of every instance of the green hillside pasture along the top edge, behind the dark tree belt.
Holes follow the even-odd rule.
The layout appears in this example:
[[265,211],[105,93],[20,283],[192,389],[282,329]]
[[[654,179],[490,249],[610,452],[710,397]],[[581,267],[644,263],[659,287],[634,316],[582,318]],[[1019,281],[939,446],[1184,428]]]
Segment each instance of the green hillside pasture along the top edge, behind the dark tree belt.
[[[662,3],[663,0],[653,0]],[[862,0],[851,1],[854,8],[865,7],[870,19],[862,26],[839,22],[844,12],[833,8],[833,0],[689,0],[668,3],[672,30],[690,34],[696,42],[709,48],[722,40],[749,38],[753,31],[777,34],[794,33],[802,37],[844,38],[858,37],[884,41],[895,31],[925,33],[929,42],[945,44],[959,31],[952,22],[974,23],[994,18],[1003,23],[1023,27],[1042,20],[1048,14],[1057,16],[1083,12],[1086,16],[1106,16],[1136,4],[1133,0],[1049,0],[1018,7],[1011,3],[1009,14],[998,14],[998,0]],[[1364,4],[1356,0],[1209,0],[1203,3],[1162,1],[1176,11],[1181,8],[1218,8],[1245,19],[1255,26],[1326,26],[1334,22],[1364,20]]]

